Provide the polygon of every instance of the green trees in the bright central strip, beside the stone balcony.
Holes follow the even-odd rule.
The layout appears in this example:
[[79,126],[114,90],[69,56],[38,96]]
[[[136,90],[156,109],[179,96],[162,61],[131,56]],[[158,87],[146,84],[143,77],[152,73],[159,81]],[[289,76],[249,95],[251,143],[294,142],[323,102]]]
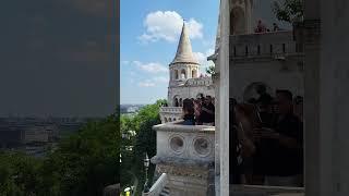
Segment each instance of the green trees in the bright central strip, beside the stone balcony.
[[[136,195],[140,195],[143,191],[143,185],[145,182],[145,173],[143,159],[145,158],[145,152],[152,158],[156,154],[156,132],[153,126],[160,124],[159,108],[166,103],[166,100],[157,100],[154,105],[147,105],[143,107],[139,113],[132,118],[122,118],[121,130],[128,131],[128,128],[134,128],[136,131],[136,136],[132,140],[132,146],[134,150],[132,152],[123,150],[122,151],[122,171],[121,171],[121,182],[122,188],[130,186],[133,183],[133,179],[130,172],[133,173],[139,180],[139,186],[136,187]],[[129,122],[129,121],[132,121]],[[124,139],[123,139],[124,140]],[[127,144],[122,142],[122,144]],[[151,164],[148,175],[153,179],[155,166]],[[149,182],[151,183],[151,182]],[[152,184],[149,184],[152,185]]]

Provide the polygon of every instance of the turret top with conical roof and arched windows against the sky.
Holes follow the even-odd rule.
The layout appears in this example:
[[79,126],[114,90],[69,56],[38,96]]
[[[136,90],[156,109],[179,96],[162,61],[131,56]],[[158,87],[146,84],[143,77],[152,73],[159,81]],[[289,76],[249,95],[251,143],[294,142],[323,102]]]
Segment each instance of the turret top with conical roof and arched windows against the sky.
[[198,61],[193,54],[192,46],[189,39],[189,33],[185,23],[183,22],[176,57],[169,64],[169,87],[177,86],[179,82],[186,81],[188,78],[198,77]]

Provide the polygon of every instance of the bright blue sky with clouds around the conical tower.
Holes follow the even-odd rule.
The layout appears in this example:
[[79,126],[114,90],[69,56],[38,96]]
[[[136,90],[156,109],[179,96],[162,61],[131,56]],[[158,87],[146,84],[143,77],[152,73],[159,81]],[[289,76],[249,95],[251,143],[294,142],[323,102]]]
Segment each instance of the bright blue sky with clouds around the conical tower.
[[121,0],[121,103],[153,103],[167,98],[168,64],[174,58],[181,20],[188,22],[202,72],[210,62],[218,0]]

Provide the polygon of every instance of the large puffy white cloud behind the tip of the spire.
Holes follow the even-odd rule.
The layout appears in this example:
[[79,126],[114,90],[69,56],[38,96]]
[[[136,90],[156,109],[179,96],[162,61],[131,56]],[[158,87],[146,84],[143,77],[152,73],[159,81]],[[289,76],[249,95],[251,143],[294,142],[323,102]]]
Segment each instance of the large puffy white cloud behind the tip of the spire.
[[[143,42],[166,40],[173,42],[178,39],[183,25],[183,17],[176,11],[151,12],[144,20],[146,32],[139,37]],[[203,24],[194,19],[186,22],[191,39],[203,38]]]

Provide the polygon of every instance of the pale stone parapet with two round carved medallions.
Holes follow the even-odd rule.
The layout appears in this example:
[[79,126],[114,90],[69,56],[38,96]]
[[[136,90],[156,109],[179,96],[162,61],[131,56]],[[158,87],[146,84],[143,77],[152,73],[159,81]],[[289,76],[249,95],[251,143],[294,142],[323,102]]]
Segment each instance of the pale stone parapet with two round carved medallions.
[[215,127],[206,125],[182,125],[182,121],[159,124],[157,154],[153,163],[208,164],[215,160]]

